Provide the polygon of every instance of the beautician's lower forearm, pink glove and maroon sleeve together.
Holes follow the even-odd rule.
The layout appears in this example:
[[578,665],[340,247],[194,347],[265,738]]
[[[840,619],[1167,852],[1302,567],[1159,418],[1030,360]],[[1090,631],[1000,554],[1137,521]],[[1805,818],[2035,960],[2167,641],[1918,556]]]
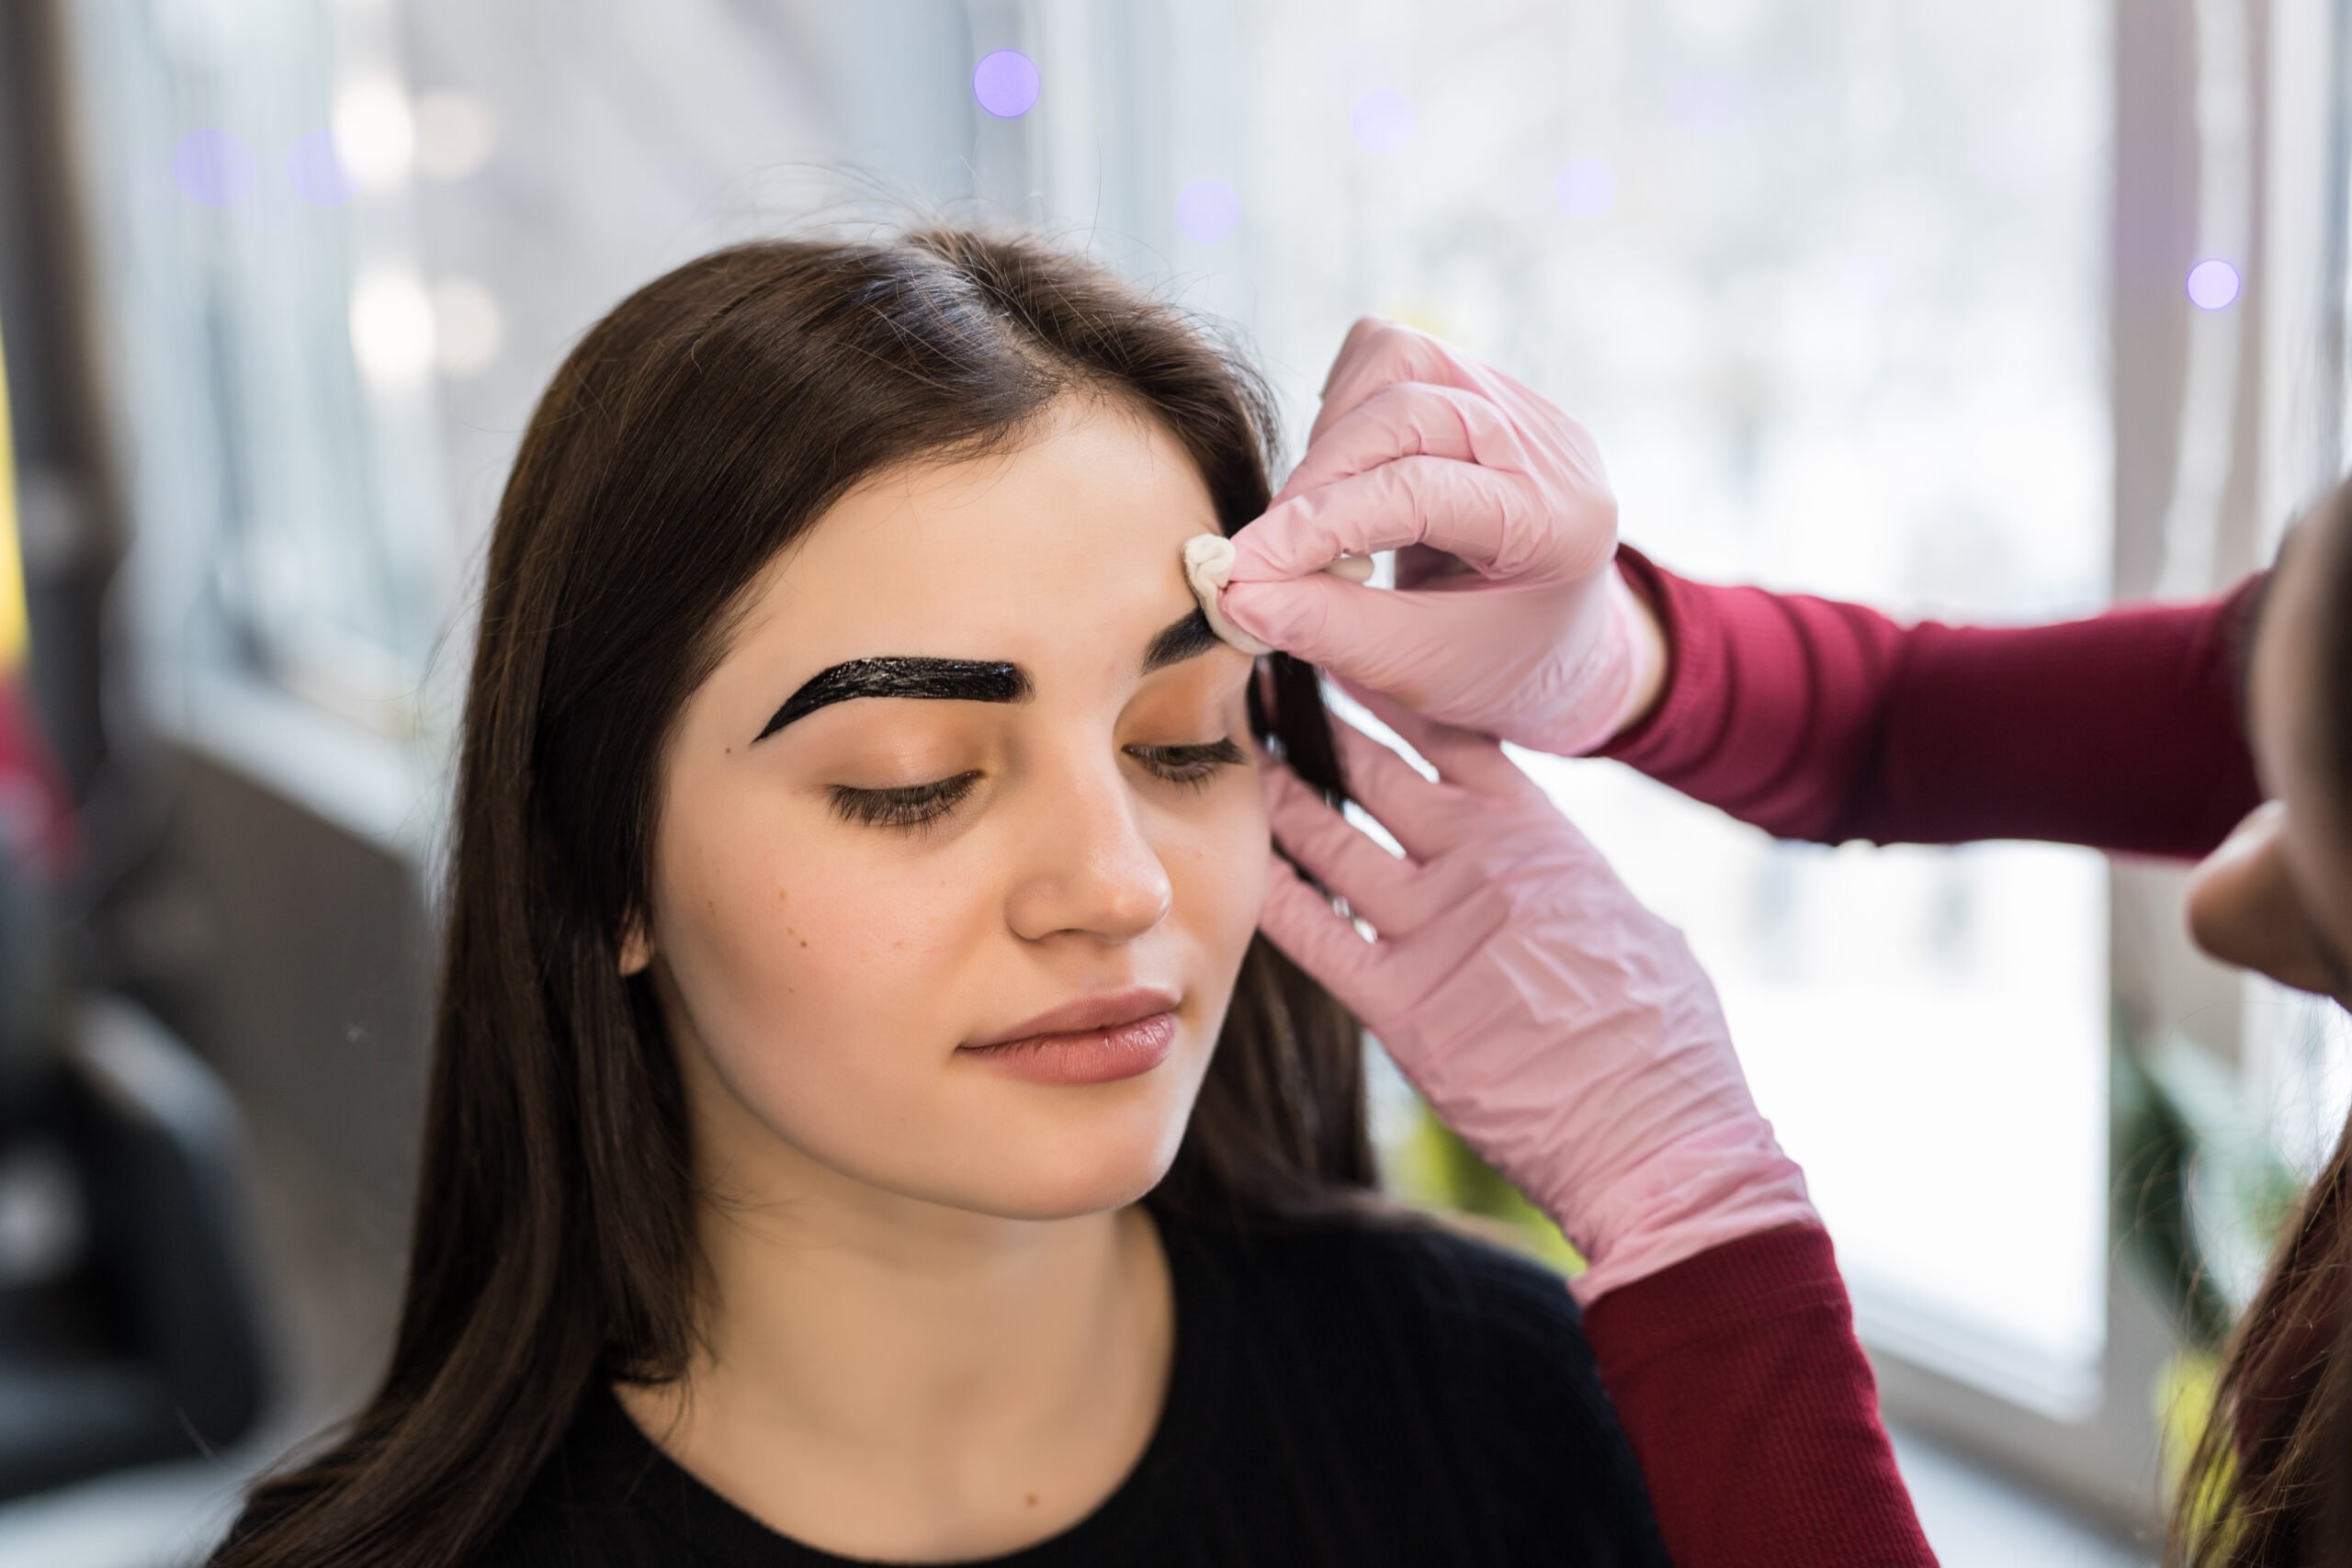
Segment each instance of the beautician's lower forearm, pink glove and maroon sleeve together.
[[1804,1175],[1757,1114],[1715,990],[1486,738],[1359,691],[1439,773],[1341,726],[1395,858],[1268,766],[1261,924],[1432,1107],[1592,1258],[1609,1396],[1682,1568],[1931,1563]]

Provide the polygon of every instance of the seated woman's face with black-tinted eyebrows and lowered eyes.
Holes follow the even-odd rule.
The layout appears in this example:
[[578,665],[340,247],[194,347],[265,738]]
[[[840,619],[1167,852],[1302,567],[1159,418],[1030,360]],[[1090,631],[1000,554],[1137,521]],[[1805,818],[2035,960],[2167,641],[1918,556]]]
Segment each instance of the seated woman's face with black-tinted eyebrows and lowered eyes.
[[663,764],[652,961],[696,1159],[1004,1218],[1167,1171],[1263,898],[1249,661],[1171,437],[1065,400],[849,491],[753,585]]

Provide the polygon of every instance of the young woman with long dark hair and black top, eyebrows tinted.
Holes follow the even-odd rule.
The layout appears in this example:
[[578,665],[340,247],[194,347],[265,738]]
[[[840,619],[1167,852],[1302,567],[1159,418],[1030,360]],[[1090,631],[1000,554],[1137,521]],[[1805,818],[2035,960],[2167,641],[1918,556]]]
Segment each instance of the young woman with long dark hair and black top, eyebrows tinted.
[[1374,1199],[1254,933],[1268,414],[1028,242],[748,244],[499,510],[409,1291],[233,1568],[1663,1563],[1557,1279]]

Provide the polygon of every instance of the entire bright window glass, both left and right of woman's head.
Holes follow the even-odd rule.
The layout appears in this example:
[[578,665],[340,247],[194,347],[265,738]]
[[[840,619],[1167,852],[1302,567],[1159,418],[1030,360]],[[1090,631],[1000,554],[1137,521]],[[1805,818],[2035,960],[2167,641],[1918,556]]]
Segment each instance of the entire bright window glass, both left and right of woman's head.
[[[435,795],[435,649],[562,350],[661,268],[877,193],[981,197],[1162,277],[1244,327],[1294,430],[1355,315],[1442,331],[1590,423],[1628,538],[1693,576],[2089,611],[2107,16],[73,7],[151,689],[195,729],[228,682],[390,736],[358,816],[400,820]],[[974,101],[993,49],[1033,54],[1033,110]],[[198,129],[247,162],[205,143],[174,183]],[[245,755],[308,790],[292,733]],[[1529,766],[1691,931],[1865,1333],[2079,1410],[2107,1326],[2105,865],[1773,844],[1611,764]]]

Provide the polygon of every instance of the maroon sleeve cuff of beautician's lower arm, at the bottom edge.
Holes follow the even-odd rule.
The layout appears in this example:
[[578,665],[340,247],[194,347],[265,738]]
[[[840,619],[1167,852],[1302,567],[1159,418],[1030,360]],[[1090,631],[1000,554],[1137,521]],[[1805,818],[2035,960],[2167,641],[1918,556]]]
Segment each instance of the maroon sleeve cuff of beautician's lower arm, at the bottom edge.
[[1936,1561],[1830,1232],[1740,1237],[1621,1286],[1585,1338],[1677,1568]]

